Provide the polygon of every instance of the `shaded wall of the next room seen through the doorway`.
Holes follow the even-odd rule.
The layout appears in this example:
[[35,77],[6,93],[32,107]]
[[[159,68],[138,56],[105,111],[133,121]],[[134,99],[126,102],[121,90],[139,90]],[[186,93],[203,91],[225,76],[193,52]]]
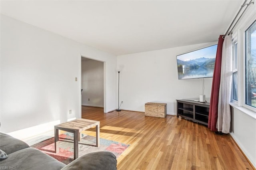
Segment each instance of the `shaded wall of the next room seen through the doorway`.
[[[104,107],[103,62],[82,60],[82,105]],[[88,100],[90,99],[90,101]]]

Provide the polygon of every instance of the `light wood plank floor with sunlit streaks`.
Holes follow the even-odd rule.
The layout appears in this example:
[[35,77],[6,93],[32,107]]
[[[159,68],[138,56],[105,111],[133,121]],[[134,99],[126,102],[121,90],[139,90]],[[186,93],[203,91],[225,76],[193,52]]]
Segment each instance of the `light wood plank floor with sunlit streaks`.
[[[230,135],[176,116],[82,106],[82,118],[100,121],[100,138],[130,144],[117,159],[118,170],[254,169]],[[95,136],[95,128],[85,133]]]

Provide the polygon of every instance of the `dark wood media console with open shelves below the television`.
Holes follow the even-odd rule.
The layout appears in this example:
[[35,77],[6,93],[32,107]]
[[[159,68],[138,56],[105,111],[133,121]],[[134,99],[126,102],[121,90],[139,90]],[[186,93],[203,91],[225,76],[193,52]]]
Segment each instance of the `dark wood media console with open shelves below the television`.
[[201,103],[193,100],[176,100],[177,117],[181,116],[193,122],[208,125],[210,103]]

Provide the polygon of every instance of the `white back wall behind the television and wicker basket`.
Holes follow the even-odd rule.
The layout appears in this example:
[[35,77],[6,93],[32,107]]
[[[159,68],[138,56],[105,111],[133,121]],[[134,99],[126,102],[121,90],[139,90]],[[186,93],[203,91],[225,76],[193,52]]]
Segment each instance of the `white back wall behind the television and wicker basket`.
[[[202,79],[178,80],[176,55],[217,42],[147,51],[117,57],[120,70],[121,109],[144,111],[147,102],[167,103],[167,114],[176,115],[176,99],[198,99]],[[204,94],[210,102],[212,78],[204,79]]]

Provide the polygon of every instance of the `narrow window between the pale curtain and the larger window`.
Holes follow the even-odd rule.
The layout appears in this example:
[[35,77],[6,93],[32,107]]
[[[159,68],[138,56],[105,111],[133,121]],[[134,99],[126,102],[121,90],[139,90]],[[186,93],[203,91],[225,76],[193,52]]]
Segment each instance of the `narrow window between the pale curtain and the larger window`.
[[232,99],[237,101],[237,42],[233,44]]

